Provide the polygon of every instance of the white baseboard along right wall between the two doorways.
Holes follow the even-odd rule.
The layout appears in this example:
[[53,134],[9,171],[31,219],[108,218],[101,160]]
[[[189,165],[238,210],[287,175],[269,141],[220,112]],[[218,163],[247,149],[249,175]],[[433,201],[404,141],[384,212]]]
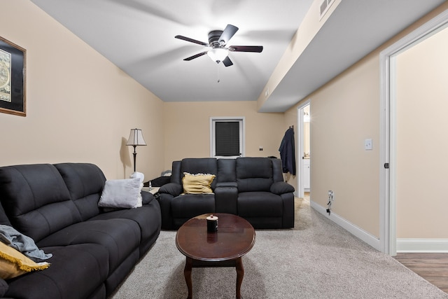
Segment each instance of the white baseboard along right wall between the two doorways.
[[355,237],[358,237],[358,239],[361,239],[365,243],[372,246],[374,249],[377,249],[378,251],[381,251],[380,244],[379,244],[379,238],[375,237],[374,235],[371,235],[369,232],[366,232],[362,228],[358,228],[358,226],[354,225],[353,223],[346,221],[346,219],[342,218],[341,216],[331,212],[330,215],[327,213],[327,208],[322,207],[321,205],[317,204],[316,202],[313,202],[312,200],[309,202],[310,206],[321,213],[326,218],[330,219],[340,227],[344,228],[348,232],[350,232]]

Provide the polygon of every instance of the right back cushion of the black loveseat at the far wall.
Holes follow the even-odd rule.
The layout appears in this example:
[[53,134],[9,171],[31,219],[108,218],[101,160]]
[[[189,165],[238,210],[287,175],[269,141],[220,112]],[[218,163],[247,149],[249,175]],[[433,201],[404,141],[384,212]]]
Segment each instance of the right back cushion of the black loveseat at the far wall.
[[267,191],[272,183],[272,160],[268,158],[237,158],[239,192]]

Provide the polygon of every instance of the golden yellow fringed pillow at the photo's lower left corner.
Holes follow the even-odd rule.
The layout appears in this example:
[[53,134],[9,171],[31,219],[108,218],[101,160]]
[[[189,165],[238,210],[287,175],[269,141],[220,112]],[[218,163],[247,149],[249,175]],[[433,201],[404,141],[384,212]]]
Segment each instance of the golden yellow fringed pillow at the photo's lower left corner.
[[20,251],[0,242],[0,278],[10,279],[34,270],[50,267],[50,263],[36,263]]

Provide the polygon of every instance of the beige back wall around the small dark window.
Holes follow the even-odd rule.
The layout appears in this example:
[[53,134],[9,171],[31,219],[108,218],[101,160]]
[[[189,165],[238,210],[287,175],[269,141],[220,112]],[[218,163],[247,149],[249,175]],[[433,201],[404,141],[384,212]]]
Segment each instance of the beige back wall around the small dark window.
[[280,158],[279,146],[288,129],[283,113],[258,113],[256,109],[255,101],[165,103],[165,168],[171,169],[174,160],[210,156],[212,116],[244,116],[246,157]]

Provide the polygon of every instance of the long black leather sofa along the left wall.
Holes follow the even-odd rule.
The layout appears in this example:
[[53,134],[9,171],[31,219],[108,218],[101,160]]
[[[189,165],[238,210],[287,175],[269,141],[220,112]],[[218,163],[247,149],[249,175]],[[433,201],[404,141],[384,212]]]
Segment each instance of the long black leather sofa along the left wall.
[[6,281],[5,298],[107,298],[155,243],[160,205],[98,207],[106,178],[96,165],[0,167],[0,224],[13,226],[52,253],[50,267]]

